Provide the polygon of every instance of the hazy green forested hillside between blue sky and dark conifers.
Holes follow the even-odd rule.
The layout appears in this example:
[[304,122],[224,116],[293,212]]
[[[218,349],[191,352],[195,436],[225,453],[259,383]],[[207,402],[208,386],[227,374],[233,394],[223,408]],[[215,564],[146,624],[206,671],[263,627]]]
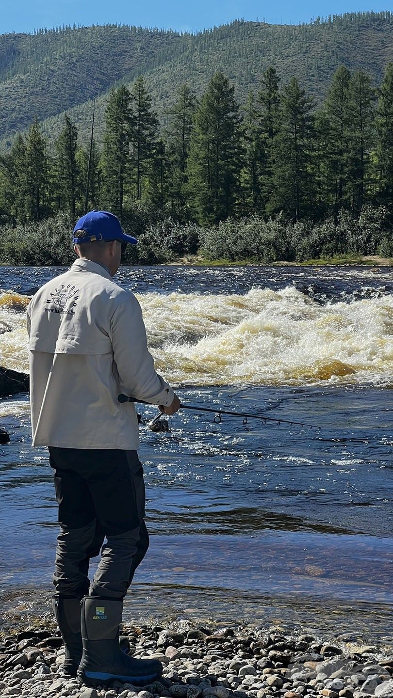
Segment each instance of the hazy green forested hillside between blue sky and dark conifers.
[[244,102],[270,65],[286,82],[294,76],[321,103],[336,68],[364,70],[375,84],[393,60],[393,15],[357,13],[299,26],[236,20],[197,35],[110,25],[0,36],[0,140],[4,148],[34,117],[55,138],[67,111],[86,141],[96,99],[96,138],[103,133],[108,90],[144,75],[166,123],[176,88],[202,94],[216,70]]

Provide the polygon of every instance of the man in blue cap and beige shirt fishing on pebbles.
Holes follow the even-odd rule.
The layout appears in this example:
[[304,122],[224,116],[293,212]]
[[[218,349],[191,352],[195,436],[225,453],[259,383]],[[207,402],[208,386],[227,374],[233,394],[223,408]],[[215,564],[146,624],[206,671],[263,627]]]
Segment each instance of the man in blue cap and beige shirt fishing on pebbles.
[[[144,683],[162,665],[119,646],[123,598],[148,532],[136,411],[117,395],[167,415],[180,401],[155,372],[136,298],[112,278],[123,246],[136,239],[113,214],[90,211],[73,242],[78,260],[38,290],[27,311],[33,445],[49,447],[59,504],[55,616],[67,674],[89,685]],[[90,585],[90,558],[102,544]]]

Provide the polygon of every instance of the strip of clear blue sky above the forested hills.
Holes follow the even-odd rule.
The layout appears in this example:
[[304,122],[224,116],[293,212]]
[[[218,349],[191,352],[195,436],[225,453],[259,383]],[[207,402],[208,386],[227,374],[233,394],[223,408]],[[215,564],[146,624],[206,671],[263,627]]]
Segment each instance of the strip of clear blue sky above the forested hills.
[[318,15],[362,10],[392,10],[392,0],[371,5],[364,0],[10,0],[1,1],[0,34],[33,31],[62,24],[124,22],[143,27],[199,31],[238,17],[273,24],[309,22]]

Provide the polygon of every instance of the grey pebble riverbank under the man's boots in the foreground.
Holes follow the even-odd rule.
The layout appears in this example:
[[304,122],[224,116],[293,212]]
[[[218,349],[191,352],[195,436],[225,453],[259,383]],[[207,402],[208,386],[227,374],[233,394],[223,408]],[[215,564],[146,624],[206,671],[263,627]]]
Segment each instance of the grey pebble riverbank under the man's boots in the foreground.
[[[344,630],[344,632],[341,632]],[[393,659],[341,629],[333,640],[304,628],[217,625],[210,619],[125,623],[120,642],[137,658],[155,657],[163,675],[135,686],[87,688],[64,676],[64,648],[53,621],[13,631],[0,644],[0,696],[61,698],[363,698],[393,695]]]

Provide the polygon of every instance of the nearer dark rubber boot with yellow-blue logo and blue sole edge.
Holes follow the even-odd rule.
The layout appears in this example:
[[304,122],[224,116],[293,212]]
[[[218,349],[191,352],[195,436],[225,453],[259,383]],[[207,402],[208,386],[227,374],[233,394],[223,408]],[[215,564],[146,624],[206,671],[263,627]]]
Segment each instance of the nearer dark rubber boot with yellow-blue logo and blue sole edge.
[[120,649],[119,626],[123,600],[85,596],[82,604],[81,628],[83,656],[78,678],[89,686],[106,685],[110,681],[151,683],[162,675],[158,660],[134,659]]

